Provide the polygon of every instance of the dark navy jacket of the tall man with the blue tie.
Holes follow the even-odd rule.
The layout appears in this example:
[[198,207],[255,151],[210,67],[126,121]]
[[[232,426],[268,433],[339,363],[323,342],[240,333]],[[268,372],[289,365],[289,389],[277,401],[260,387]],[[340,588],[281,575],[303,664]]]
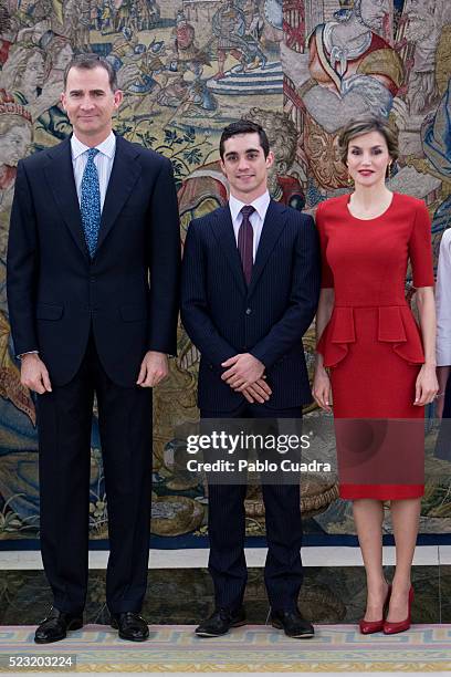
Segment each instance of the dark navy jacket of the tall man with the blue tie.
[[15,353],[39,351],[51,381],[64,385],[92,327],[108,376],[133,386],[146,351],[176,353],[179,249],[171,163],[157,153],[116,136],[93,260],[70,139],[21,160],[8,246]]

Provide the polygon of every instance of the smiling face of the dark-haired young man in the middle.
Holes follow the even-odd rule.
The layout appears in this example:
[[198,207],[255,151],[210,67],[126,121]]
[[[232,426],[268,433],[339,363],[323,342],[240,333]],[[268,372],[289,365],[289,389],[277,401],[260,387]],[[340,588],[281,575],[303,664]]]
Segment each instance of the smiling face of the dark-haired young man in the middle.
[[221,167],[231,192],[238,198],[248,198],[242,201],[252,201],[266,190],[268,170],[273,162],[271,152],[264,157],[260,136],[252,132],[227,139]]

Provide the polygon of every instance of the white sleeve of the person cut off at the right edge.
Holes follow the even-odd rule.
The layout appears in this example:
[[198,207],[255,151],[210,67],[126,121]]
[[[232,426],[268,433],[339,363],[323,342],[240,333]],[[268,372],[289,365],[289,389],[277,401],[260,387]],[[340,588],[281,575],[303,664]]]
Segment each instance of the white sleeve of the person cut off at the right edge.
[[451,365],[451,228],[442,235],[436,285],[437,366]]

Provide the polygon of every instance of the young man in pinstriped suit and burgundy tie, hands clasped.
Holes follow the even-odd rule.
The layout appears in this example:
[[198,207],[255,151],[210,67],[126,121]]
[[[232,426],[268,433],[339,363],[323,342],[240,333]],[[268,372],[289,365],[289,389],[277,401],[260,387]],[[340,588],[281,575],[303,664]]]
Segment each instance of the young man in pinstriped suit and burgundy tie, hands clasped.
[[[229,204],[191,221],[181,317],[201,352],[201,418],[300,418],[312,400],[302,336],[319,291],[313,219],[268,192],[274,162],[262,127],[229,125],[220,142]],[[264,454],[264,450],[263,450]],[[297,610],[302,583],[300,486],[263,483],[272,624],[292,637],[313,627]],[[209,570],[216,610],[197,628],[217,636],[245,623],[245,486],[209,483]]]

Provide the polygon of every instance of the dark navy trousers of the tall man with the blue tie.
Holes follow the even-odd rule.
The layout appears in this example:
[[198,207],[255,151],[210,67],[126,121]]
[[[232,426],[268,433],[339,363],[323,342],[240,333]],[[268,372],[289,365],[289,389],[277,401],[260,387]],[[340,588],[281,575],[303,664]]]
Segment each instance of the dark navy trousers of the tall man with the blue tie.
[[81,613],[87,589],[94,393],[108,509],[106,602],[139,612],[147,587],[151,497],[151,390],[105,373],[91,333],[78,372],[38,396],[41,551],[53,605]]

